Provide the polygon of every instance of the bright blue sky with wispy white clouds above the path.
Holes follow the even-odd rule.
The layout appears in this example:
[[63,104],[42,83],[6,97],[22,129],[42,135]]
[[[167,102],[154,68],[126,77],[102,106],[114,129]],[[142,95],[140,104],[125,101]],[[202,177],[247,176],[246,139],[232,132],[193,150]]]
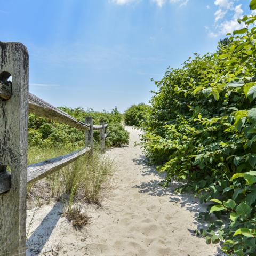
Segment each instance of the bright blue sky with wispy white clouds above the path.
[[30,56],[29,91],[55,106],[147,103],[167,67],[214,51],[249,0],[0,0],[1,41]]

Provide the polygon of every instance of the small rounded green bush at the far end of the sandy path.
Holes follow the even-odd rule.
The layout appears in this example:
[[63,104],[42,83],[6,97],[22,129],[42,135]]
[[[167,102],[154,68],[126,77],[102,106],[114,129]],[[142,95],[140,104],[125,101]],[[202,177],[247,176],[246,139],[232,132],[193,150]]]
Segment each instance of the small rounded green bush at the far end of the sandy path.
[[127,108],[124,113],[124,122],[127,125],[139,126],[141,121],[144,121],[149,114],[150,106],[145,103],[132,105]]

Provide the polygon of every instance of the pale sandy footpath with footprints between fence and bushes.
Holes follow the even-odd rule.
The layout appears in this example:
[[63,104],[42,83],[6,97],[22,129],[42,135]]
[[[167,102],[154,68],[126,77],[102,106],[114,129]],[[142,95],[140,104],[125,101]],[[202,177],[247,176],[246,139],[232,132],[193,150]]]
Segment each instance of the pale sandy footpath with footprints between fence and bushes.
[[119,166],[113,177],[115,188],[101,209],[86,206],[92,223],[76,231],[61,217],[61,203],[43,205],[36,212],[31,209],[27,255],[221,255],[218,246],[206,245],[193,233],[198,226],[195,215],[203,206],[191,195],[174,194],[174,186],[159,186],[163,177],[143,162],[140,147],[134,147],[140,131],[126,129],[129,145],[107,153]]

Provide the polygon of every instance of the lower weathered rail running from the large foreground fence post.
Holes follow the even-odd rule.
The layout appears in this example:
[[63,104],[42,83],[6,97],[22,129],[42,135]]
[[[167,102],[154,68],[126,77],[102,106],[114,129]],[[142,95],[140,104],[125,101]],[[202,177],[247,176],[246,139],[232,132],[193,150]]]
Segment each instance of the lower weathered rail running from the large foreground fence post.
[[55,157],[37,164],[31,164],[28,166],[28,183],[33,183],[37,180],[41,180],[47,175],[58,171],[62,167],[74,162],[78,157],[83,156],[86,152],[90,151],[89,147],[75,151],[73,153]]

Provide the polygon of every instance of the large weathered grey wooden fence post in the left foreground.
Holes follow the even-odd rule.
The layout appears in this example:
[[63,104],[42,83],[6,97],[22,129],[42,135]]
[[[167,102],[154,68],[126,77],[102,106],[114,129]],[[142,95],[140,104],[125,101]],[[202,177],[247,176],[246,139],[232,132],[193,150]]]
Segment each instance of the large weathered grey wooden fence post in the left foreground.
[[[11,98],[0,99],[0,255],[26,253],[28,52],[0,42],[0,80],[12,76]],[[10,171],[10,172],[9,172]]]

